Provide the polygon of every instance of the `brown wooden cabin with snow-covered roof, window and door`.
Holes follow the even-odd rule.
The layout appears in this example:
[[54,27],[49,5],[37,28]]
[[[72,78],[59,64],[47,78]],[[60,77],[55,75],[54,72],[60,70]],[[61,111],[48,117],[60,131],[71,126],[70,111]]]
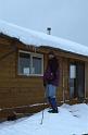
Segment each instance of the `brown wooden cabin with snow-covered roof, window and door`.
[[59,103],[87,100],[88,47],[0,21],[0,118],[12,110],[33,113],[41,109],[50,50],[60,65]]

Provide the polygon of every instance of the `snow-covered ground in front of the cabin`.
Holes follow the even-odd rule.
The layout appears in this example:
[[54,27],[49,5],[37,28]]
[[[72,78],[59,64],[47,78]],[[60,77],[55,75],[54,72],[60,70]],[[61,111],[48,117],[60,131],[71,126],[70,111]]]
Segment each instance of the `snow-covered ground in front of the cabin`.
[[0,135],[88,135],[88,106],[63,105],[59,113],[42,112],[33,116],[3,122],[0,124]]

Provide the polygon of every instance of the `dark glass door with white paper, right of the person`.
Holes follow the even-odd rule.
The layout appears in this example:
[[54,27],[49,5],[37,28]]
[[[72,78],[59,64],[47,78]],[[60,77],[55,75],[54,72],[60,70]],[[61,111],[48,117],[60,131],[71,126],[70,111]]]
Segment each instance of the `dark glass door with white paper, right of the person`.
[[85,64],[70,63],[70,98],[85,97]]

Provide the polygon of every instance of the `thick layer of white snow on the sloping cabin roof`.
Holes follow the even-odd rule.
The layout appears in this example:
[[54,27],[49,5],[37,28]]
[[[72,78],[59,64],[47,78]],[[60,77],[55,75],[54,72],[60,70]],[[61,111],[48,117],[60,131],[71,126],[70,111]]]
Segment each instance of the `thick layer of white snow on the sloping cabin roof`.
[[0,33],[18,38],[22,42],[26,45],[34,45],[38,47],[49,46],[62,49],[64,51],[70,51],[73,53],[88,57],[87,46],[67,39],[51,36],[45,33],[30,30],[28,28],[24,28],[4,21],[0,21]]

